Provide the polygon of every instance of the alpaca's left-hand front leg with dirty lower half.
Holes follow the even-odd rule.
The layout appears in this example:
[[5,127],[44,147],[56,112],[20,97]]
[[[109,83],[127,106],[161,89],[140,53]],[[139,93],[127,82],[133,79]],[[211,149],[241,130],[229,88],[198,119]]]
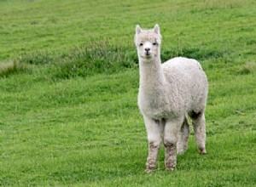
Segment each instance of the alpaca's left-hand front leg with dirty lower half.
[[160,122],[156,122],[147,116],[144,116],[145,126],[148,133],[148,158],[146,162],[146,173],[152,172],[156,168],[158,153],[161,144],[161,129]]

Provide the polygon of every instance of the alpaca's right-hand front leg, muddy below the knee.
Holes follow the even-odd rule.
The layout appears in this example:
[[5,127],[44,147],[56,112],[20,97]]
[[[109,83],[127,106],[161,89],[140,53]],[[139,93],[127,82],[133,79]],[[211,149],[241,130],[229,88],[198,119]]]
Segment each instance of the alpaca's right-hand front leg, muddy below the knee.
[[167,120],[165,127],[164,145],[166,148],[166,170],[173,171],[177,163],[176,144],[183,118],[175,121]]

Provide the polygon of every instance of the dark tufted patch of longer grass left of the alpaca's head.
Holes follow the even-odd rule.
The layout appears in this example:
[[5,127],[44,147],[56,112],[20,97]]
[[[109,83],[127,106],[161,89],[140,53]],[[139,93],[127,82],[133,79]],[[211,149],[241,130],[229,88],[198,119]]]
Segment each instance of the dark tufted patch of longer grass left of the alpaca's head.
[[52,79],[63,79],[134,68],[136,60],[136,50],[131,45],[117,45],[106,38],[102,42],[91,40],[63,54],[47,51],[22,54],[19,64],[38,65]]

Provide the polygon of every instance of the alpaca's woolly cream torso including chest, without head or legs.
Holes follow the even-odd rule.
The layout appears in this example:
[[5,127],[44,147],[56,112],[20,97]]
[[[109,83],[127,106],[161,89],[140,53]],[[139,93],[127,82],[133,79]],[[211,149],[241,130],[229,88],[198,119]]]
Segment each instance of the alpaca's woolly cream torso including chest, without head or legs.
[[149,75],[141,77],[138,94],[143,115],[160,120],[204,111],[207,77],[195,59],[170,59],[158,67],[163,75],[158,75],[154,64],[141,65],[140,68],[141,74],[145,71],[143,74]]

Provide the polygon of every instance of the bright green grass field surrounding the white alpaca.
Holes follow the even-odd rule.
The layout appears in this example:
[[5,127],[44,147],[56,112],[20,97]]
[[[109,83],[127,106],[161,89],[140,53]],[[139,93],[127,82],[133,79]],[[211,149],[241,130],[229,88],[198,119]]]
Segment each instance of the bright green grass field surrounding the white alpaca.
[[[255,186],[254,0],[0,0],[0,185]],[[207,73],[207,156],[143,173],[135,26]]]

